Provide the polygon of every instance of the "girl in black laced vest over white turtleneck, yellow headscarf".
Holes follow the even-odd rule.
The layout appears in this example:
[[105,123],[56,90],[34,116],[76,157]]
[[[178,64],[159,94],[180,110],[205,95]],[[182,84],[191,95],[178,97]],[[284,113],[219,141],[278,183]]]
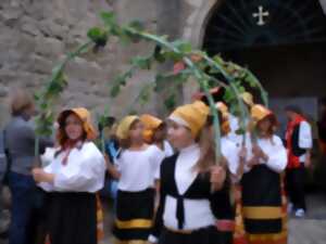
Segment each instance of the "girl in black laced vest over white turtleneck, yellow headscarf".
[[204,103],[195,102],[168,117],[168,139],[178,153],[161,165],[160,204],[150,243],[220,244],[215,190],[222,188],[225,170],[213,167],[214,150],[198,144],[209,113]]

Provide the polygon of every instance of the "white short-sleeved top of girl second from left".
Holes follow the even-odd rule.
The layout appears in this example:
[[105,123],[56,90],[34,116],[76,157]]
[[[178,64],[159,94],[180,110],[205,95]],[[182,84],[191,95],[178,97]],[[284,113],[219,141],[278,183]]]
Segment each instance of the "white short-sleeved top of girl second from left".
[[143,151],[122,151],[115,163],[121,172],[117,188],[128,192],[153,188],[154,176],[163,158],[164,153],[156,145],[150,145]]

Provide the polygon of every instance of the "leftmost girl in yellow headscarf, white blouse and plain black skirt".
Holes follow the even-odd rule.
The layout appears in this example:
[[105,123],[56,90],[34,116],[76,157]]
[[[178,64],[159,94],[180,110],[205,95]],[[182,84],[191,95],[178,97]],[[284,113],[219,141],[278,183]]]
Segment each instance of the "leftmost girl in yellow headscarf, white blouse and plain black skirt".
[[39,187],[49,192],[47,232],[51,244],[97,244],[97,198],[103,188],[105,160],[91,140],[90,114],[78,107],[60,114],[54,158],[33,170]]

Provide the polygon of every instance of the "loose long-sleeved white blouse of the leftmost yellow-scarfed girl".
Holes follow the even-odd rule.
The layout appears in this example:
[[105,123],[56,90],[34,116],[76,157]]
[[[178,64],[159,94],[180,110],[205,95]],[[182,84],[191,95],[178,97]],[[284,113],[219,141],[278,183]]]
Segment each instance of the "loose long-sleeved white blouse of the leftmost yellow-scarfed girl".
[[90,192],[103,188],[105,160],[92,142],[85,142],[82,149],[73,149],[67,164],[63,165],[64,153],[59,154],[45,167],[45,171],[54,174],[54,182],[39,183],[48,192]]

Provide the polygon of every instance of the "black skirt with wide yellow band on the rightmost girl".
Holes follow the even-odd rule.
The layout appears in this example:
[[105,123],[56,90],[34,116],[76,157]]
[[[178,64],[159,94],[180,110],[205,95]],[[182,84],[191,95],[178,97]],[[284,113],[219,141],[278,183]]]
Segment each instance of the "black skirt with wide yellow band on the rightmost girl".
[[250,234],[281,232],[280,175],[265,165],[260,165],[243,175],[241,184],[246,232]]

